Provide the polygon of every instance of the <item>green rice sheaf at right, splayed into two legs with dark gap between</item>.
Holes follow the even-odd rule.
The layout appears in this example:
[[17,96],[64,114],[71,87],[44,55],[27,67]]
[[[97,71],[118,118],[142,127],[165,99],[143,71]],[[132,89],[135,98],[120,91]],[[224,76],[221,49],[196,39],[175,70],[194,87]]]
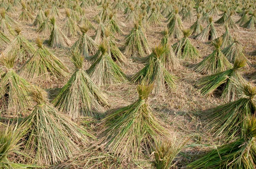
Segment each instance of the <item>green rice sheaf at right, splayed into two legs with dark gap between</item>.
[[239,87],[246,82],[241,74],[244,66],[246,60],[238,59],[233,68],[198,79],[197,86],[200,87],[202,95],[210,94],[221,87],[221,99],[225,102],[234,101],[241,94]]

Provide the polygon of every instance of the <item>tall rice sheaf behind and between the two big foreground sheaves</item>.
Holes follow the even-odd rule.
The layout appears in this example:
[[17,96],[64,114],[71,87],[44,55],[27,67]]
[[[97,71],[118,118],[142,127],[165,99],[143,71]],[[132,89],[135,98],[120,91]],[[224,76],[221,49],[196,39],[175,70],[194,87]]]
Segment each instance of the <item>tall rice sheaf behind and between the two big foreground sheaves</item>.
[[73,119],[102,113],[108,99],[83,70],[84,57],[73,52],[70,59],[76,66],[76,70],[52,104]]

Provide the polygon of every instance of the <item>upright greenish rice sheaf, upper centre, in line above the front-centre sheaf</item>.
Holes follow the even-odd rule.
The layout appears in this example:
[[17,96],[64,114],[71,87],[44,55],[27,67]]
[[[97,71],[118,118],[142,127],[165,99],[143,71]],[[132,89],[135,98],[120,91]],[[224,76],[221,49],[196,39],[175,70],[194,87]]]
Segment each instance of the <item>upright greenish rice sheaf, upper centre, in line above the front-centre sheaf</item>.
[[143,57],[144,54],[150,54],[149,44],[141,22],[134,24],[134,28],[125,37],[124,54],[128,57]]

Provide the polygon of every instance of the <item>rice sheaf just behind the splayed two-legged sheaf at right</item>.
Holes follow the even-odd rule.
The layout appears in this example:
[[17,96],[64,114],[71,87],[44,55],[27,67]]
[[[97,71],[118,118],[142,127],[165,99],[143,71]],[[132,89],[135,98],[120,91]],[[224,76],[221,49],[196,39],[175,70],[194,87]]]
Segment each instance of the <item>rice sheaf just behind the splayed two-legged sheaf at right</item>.
[[232,67],[231,63],[221,52],[222,38],[212,41],[215,50],[204,60],[195,65],[194,70],[199,73],[212,74],[225,71]]

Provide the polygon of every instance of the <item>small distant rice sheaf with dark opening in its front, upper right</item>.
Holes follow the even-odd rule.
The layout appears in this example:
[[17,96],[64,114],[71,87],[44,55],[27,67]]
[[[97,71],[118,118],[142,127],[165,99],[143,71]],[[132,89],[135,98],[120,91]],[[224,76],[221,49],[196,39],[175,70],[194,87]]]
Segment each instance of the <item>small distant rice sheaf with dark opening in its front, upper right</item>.
[[202,42],[212,41],[218,37],[215,26],[212,23],[212,17],[209,18],[209,25],[207,25],[204,30],[198,34],[195,39],[200,40]]

